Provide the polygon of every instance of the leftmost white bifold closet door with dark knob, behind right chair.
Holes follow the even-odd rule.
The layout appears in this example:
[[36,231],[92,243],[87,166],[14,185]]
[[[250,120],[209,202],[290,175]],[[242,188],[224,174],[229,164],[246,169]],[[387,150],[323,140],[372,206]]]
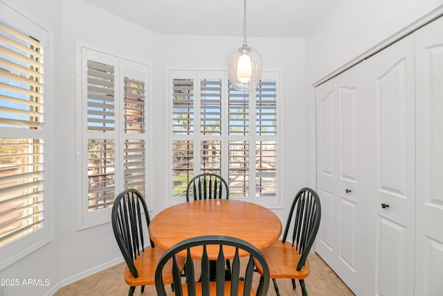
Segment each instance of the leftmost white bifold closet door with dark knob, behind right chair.
[[364,71],[356,65],[316,88],[318,193],[322,221],[316,251],[347,286],[363,288],[364,214],[359,175],[365,168],[358,119],[365,112]]

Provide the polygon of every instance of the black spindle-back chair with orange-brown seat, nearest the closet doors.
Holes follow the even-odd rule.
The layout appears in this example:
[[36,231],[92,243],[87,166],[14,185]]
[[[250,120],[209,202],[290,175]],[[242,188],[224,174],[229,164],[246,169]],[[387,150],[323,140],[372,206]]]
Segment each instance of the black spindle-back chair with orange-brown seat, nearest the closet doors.
[[[307,296],[305,278],[309,275],[310,270],[307,255],[316,238],[320,216],[320,199],[317,193],[309,188],[301,189],[293,199],[282,240],[263,251],[277,295],[280,293],[275,279],[291,279],[294,289],[296,288],[296,279],[298,279],[302,295]],[[292,242],[287,241],[290,227],[293,228]],[[260,275],[263,274],[259,264],[257,264],[257,271]]]

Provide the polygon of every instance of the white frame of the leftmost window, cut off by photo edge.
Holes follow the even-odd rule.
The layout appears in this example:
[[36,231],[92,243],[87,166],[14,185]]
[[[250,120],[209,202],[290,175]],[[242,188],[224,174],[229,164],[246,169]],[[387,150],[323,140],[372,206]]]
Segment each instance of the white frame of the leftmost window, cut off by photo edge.
[[0,270],[7,268],[13,263],[23,259],[24,257],[32,254],[40,247],[50,243],[53,240],[53,233],[49,224],[51,223],[52,212],[51,212],[51,178],[50,168],[48,163],[50,162],[51,155],[51,141],[53,137],[49,137],[51,134],[51,128],[53,126],[53,114],[51,113],[51,108],[48,107],[52,99],[52,87],[53,85],[53,68],[52,60],[53,53],[49,48],[49,43],[52,40],[51,31],[46,28],[39,26],[33,20],[28,19],[20,12],[6,6],[6,4],[0,2],[0,18],[6,23],[18,28],[19,30],[25,32],[26,34],[35,37],[39,40],[39,44],[42,45],[44,52],[44,123],[40,130],[26,130],[21,128],[0,128],[0,133],[4,138],[15,138],[15,139],[42,139],[42,146],[44,147],[43,152],[43,167],[44,171],[43,181],[40,185],[42,187],[43,195],[43,219],[42,226],[39,229],[25,234],[14,241],[6,243],[0,247]]

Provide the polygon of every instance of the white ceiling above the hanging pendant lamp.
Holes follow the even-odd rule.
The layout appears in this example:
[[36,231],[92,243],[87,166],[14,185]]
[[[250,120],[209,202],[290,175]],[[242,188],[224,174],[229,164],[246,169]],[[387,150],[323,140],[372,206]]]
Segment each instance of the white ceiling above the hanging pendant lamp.
[[[162,35],[242,36],[242,0],[84,0]],[[305,37],[333,0],[250,0],[248,37]]]

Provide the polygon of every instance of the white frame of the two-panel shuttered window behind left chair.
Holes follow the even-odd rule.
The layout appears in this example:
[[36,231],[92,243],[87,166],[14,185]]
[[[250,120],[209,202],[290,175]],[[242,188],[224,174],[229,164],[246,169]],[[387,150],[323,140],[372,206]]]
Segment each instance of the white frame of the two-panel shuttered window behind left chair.
[[[87,94],[87,80],[82,80],[82,77],[87,77],[87,69],[83,67],[82,59],[96,58],[100,62],[109,62],[110,64],[115,64],[116,69],[114,69],[114,107],[115,107],[115,126],[116,130],[114,134],[103,133],[93,133],[94,136],[88,136],[87,132],[87,104],[84,104],[84,96]],[[76,176],[78,178],[77,191],[77,229],[87,229],[89,227],[95,227],[98,225],[103,225],[111,223],[111,209],[112,206],[106,207],[105,209],[98,209],[96,211],[88,211],[89,204],[89,193],[88,193],[88,175],[86,173],[87,167],[87,141],[88,139],[115,139],[115,177],[116,180],[114,184],[114,198],[118,193],[125,190],[126,186],[124,184],[125,175],[125,158],[123,150],[125,148],[125,139],[139,139],[145,141],[145,200],[150,207],[151,192],[149,186],[149,172],[150,172],[150,103],[151,100],[151,81],[150,81],[150,66],[146,62],[135,62],[134,60],[129,60],[123,58],[122,55],[116,53],[108,53],[107,51],[101,51],[97,46],[91,44],[84,44],[84,42],[78,42],[76,44],[76,62],[77,62],[77,94],[76,94],[76,151],[77,151],[77,168]],[[125,73],[128,72],[138,72],[138,75],[143,76],[143,81],[145,83],[145,101],[144,101],[144,114],[145,114],[145,129],[143,133],[133,134],[134,137],[125,137],[124,124],[123,124],[123,103],[124,103],[124,79]],[[86,126],[84,125],[86,124]]]

